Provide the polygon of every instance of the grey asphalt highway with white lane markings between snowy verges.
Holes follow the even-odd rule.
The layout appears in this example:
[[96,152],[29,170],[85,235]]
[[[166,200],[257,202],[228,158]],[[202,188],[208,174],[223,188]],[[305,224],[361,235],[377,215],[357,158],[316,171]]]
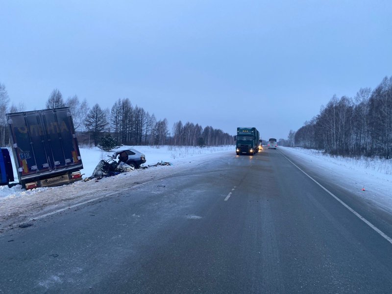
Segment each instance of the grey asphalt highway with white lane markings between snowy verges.
[[[295,164],[392,236],[389,214]],[[392,293],[392,244],[279,150],[118,189],[2,235],[0,293]]]

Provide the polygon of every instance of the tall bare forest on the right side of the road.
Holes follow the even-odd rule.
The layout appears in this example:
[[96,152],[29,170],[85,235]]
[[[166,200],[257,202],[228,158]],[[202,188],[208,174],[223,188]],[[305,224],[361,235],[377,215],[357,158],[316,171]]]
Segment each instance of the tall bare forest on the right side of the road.
[[354,98],[334,96],[295,132],[294,145],[343,156],[392,158],[392,76],[373,91],[360,89]]

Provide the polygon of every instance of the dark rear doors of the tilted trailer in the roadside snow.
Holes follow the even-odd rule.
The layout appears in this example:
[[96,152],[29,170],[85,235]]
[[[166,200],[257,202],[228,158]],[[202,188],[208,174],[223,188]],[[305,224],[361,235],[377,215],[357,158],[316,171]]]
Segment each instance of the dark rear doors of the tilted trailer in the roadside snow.
[[68,107],[7,114],[21,182],[83,169]]

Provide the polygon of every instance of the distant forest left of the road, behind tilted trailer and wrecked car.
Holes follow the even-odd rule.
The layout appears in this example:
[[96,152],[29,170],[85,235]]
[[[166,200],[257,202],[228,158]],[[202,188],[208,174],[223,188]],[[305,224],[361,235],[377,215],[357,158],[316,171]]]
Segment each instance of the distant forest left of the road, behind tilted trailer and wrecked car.
[[[5,114],[25,111],[24,104],[9,106],[10,98],[5,85],[0,83],[0,129],[1,146],[9,144]],[[54,89],[46,102],[46,108],[68,106],[81,145],[98,146],[102,139],[113,139],[117,145],[174,145],[174,146],[218,146],[234,144],[233,136],[221,129],[198,123],[178,121],[173,124],[172,134],[168,120],[157,121],[143,107],[133,106],[128,98],[118,99],[111,109],[102,109],[99,104],[89,107],[86,99],[74,95],[64,100],[61,92]],[[31,110],[31,109],[29,109]]]

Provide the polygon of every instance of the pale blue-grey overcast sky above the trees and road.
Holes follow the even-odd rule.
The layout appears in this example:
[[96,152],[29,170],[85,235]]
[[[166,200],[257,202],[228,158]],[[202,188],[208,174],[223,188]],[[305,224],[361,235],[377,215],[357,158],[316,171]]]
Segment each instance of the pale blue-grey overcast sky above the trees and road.
[[0,0],[0,83],[25,110],[57,88],[102,108],[129,98],[170,130],[287,138],[386,75],[391,0]]

